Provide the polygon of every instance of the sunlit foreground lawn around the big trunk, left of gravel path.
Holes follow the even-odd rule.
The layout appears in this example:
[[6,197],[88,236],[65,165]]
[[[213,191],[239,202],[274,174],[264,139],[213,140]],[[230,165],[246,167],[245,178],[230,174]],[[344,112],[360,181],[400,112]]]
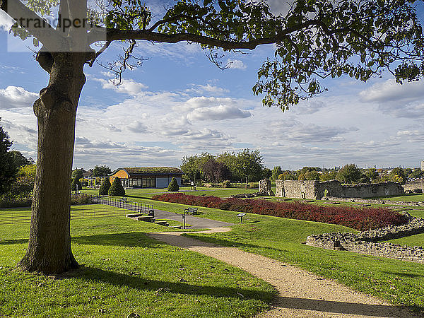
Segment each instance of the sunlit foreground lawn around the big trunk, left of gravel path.
[[81,269],[54,279],[15,267],[29,224],[0,225],[0,317],[251,317],[268,308],[271,285],[145,235],[163,230],[124,216],[72,220]]

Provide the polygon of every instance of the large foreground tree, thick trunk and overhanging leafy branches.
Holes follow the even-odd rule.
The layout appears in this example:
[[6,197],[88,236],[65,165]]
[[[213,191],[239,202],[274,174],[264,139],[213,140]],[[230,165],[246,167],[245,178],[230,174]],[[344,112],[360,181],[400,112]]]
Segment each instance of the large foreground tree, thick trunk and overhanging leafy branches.
[[[287,13],[276,16],[265,1],[185,0],[152,19],[139,0],[90,1],[90,7],[88,0],[0,0],[0,10],[17,21],[11,33],[35,37],[35,45],[40,44],[35,60],[49,75],[33,107],[39,129],[35,204],[28,252],[20,267],[52,273],[78,266],[71,252],[68,182],[76,112],[86,83],[84,66],[95,65],[112,42],[128,45],[122,59],[109,64],[118,82],[122,71],[132,68],[136,41],[197,43],[210,50],[217,64],[216,49],[237,52],[275,44],[273,59],[259,69],[254,94],[264,94],[263,105],[287,110],[322,93],[320,78],[367,81],[382,69],[389,69],[397,81],[422,77],[423,30],[415,2],[297,0]],[[42,20],[54,15],[80,23],[53,28]],[[81,28],[87,16],[94,23]],[[100,44],[95,52],[92,47]]]

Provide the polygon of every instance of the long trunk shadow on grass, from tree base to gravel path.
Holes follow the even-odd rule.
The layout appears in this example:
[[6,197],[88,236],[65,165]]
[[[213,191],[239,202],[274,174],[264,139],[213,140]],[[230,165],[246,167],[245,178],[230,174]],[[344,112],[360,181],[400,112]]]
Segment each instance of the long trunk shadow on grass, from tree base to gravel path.
[[[270,302],[276,297],[273,292],[232,288],[224,286],[196,285],[196,280],[190,282],[157,281],[114,271],[105,271],[93,267],[81,266],[70,271],[66,278],[78,278],[86,281],[98,281],[117,286],[125,286],[137,290],[153,290],[156,293],[178,293],[185,295],[210,295],[213,297],[257,299]],[[187,278],[189,279],[189,278]],[[242,295],[239,295],[242,294]]]

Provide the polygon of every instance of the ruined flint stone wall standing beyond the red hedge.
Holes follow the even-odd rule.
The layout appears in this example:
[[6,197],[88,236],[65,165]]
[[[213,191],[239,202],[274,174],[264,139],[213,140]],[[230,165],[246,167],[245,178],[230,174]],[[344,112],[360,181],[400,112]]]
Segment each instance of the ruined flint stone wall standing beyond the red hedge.
[[286,196],[299,199],[321,199],[324,196],[338,198],[372,198],[376,196],[402,195],[404,188],[396,182],[383,182],[376,184],[341,184],[333,180],[298,181],[276,180],[276,196]]

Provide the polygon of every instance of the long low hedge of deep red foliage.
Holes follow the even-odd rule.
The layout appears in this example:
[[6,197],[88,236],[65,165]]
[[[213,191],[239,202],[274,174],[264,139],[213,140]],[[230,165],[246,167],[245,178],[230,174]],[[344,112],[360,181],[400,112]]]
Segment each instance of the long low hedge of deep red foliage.
[[216,196],[190,196],[186,194],[160,194],[153,200],[219,208],[225,211],[255,213],[281,218],[310,220],[322,223],[344,225],[356,230],[384,228],[389,225],[401,225],[408,218],[388,208],[353,208],[350,206],[315,206],[299,202],[270,202],[257,199],[220,199]]

